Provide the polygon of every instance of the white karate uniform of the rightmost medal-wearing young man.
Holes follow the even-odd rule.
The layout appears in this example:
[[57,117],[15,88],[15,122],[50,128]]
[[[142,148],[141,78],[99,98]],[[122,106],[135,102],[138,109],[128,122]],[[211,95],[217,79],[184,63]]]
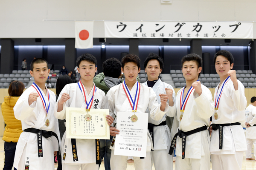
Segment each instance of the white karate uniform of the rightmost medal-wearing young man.
[[[215,120],[212,116],[212,124],[226,124],[245,122],[246,97],[244,96],[244,86],[238,81],[238,90],[235,91],[233,82],[227,79],[221,87],[215,88],[214,101],[216,93],[218,96],[222,90],[219,99],[218,118]],[[224,126],[223,127],[223,143],[222,149],[219,149],[219,130],[212,130],[212,139],[210,144],[210,152],[212,159],[212,170],[241,170],[243,151],[247,150],[244,129],[241,125]]]

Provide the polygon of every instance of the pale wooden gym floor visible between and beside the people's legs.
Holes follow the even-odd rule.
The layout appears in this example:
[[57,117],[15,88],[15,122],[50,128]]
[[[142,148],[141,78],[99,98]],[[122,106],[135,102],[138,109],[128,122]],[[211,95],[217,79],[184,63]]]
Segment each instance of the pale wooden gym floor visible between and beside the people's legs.
[[[0,137],[0,138],[2,138],[2,137]],[[3,149],[3,145],[4,145],[4,141],[0,140],[0,170],[2,170],[3,166],[4,166],[4,149]],[[252,157],[254,158],[253,153],[252,153]],[[56,169],[57,169],[57,165],[55,165],[55,170]],[[175,170],[175,162],[173,164],[173,169]],[[211,165],[211,169],[212,169],[212,165]],[[105,170],[104,164],[102,164],[100,166],[99,170]],[[126,170],[135,170],[134,163],[127,163],[127,169]],[[155,168],[153,167],[152,170],[155,170]],[[244,157],[243,157],[242,170],[256,170],[256,161],[255,160],[246,161],[245,152],[244,152]]]

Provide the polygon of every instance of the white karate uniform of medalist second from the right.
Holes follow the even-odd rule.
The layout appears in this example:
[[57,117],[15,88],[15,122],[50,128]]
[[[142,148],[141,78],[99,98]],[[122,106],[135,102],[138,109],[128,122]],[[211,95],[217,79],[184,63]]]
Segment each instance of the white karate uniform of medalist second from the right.
[[[177,92],[176,120],[179,122],[179,130],[188,132],[206,125],[209,126],[210,117],[214,112],[214,103],[212,101],[211,91],[201,85],[202,94],[199,96],[195,89],[192,90],[187,100],[182,120],[180,121],[180,99],[182,99],[182,89]],[[181,96],[181,98],[180,98]],[[207,130],[194,133],[186,137],[185,159],[182,159],[182,141],[177,137],[176,143],[176,163],[175,170],[209,170],[210,169],[210,136]]]

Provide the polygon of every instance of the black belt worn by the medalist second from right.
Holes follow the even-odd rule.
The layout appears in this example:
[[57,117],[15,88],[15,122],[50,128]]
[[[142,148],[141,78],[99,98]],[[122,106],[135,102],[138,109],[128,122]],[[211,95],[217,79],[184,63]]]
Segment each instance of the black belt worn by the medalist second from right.
[[186,149],[186,136],[192,135],[194,133],[201,132],[203,130],[207,130],[206,125],[204,125],[202,127],[198,127],[197,129],[194,129],[194,130],[190,130],[188,132],[183,132],[182,130],[179,130],[178,133],[176,133],[175,136],[172,139],[169,154],[172,155],[175,144],[176,144],[177,136],[179,136],[182,139],[182,159],[184,159],[185,158],[185,149]]

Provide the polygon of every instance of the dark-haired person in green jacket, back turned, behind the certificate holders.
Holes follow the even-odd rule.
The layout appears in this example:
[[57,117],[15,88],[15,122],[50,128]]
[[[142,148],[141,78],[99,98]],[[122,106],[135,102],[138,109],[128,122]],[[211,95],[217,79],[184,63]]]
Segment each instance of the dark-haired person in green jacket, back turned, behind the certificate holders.
[[[99,73],[93,78],[93,82],[96,87],[108,93],[109,89],[115,85],[122,83],[124,80],[120,80],[121,76],[121,62],[116,58],[107,59],[103,62],[102,68],[103,72]],[[140,82],[140,77],[137,76],[137,81]],[[100,152],[101,157],[104,157],[105,170],[110,170],[110,157],[111,157],[111,149],[109,149],[113,136],[110,136],[110,140],[100,140]]]

